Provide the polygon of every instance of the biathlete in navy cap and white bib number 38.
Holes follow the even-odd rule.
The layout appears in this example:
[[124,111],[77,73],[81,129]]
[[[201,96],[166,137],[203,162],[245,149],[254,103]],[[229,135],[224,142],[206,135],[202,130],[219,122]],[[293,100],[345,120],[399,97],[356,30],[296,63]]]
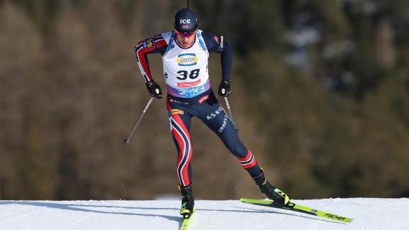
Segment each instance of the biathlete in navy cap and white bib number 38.
[[147,55],[160,53],[163,60],[167,97],[166,109],[170,132],[178,150],[176,169],[182,193],[180,214],[188,218],[193,213],[195,199],[192,192],[192,142],[190,126],[197,117],[219,136],[224,145],[249,172],[263,195],[276,204],[290,204],[284,192],[273,187],[258,166],[253,153],[241,143],[234,124],[214,96],[210,87],[209,53],[222,56],[222,82],[218,94],[228,97],[230,89],[231,45],[222,36],[197,29],[197,18],[190,9],[181,9],[175,15],[175,31],[160,33],[141,40],[135,46],[136,60],[151,97],[161,99],[162,91],[153,80]]

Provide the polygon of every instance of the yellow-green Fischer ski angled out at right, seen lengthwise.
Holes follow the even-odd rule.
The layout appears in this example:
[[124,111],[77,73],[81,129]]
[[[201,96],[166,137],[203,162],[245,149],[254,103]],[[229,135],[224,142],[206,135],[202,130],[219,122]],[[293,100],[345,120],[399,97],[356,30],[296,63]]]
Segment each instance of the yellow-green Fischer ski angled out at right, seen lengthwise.
[[341,222],[345,222],[345,223],[350,223],[351,221],[353,221],[354,219],[348,218],[348,217],[341,217],[337,214],[331,214],[329,212],[324,212],[321,210],[317,210],[317,209],[312,209],[310,207],[305,207],[299,204],[294,204],[291,203],[292,205],[290,206],[281,206],[281,205],[277,205],[274,204],[273,201],[268,200],[268,199],[245,199],[245,198],[241,198],[240,199],[241,202],[244,202],[246,204],[255,204],[255,205],[261,205],[261,206],[265,206],[265,207],[273,207],[276,209],[285,209],[285,210],[290,210],[290,211],[294,211],[294,212],[301,212],[304,214],[310,214],[313,216],[317,216],[317,217],[323,217],[323,218],[327,218],[327,219],[332,219],[334,221],[341,221]]

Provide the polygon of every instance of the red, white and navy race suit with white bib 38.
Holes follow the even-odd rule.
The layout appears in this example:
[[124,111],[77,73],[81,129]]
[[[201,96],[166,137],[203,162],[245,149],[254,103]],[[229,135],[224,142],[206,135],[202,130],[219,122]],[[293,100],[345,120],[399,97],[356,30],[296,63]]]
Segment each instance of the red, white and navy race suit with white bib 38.
[[212,33],[197,30],[193,45],[187,49],[178,44],[175,31],[155,35],[135,46],[136,60],[145,83],[153,80],[147,55],[162,55],[168,92],[166,109],[173,141],[178,148],[176,166],[182,186],[190,185],[192,179],[190,126],[193,116],[219,136],[250,175],[258,175],[261,171],[253,153],[241,143],[234,125],[210,87],[207,61],[212,52],[221,54],[222,80],[229,80],[231,45]]

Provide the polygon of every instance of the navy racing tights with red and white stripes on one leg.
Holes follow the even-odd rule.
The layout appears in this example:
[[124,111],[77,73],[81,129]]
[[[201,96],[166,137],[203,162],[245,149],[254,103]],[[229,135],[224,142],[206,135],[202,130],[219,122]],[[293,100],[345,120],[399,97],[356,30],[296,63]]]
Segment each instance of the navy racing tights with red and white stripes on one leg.
[[229,116],[214,96],[212,88],[196,97],[180,98],[167,95],[166,107],[169,116],[170,132],[178,149],[176,163],[180,185],[187,186],[192,182],[192,141],[190,126],[192,117],[197,117],[208,126],[224,143],[250,175],[260,173],[253,153],[239,139],[239,135]]

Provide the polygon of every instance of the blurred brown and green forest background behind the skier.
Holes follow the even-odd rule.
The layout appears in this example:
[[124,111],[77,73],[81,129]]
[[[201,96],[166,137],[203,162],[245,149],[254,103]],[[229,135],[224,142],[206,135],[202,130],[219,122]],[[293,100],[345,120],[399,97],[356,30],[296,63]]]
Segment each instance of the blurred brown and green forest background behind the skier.
[[[122,140],[149,99],[133,46],[173,30],[185,6],[0,0],[0,199],[180,194],[164,99]],[[293,199],[409,197],[409,0],[190,0],[190,9],[233,45],[234,121],[273,185]],[[149,61],[165,89],[160,55]],[[214,89],[219,62],[210,56]],[[192,139],[197,199],[263,197],[197,119]]]

